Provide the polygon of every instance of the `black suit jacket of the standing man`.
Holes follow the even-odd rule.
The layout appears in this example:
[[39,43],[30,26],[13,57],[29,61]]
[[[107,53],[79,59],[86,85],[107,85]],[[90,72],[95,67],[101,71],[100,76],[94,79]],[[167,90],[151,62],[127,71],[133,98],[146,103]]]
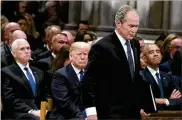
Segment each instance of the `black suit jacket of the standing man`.
[[140,118],[141,94],[138,94],[140,48],[131,40],[135,60],[132,79],[129,64],[115,32],[95,43],[89,53],[89,62],[83,78],[83,105],[96,106],[100,119]]

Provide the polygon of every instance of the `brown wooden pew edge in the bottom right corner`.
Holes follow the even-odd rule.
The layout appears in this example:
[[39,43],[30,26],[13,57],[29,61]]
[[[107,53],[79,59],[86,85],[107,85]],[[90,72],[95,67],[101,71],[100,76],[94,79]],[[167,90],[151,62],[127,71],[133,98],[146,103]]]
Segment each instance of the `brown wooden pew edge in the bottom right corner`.
[[158,111],[142,117],[142,120],[182,120],[182,111]]

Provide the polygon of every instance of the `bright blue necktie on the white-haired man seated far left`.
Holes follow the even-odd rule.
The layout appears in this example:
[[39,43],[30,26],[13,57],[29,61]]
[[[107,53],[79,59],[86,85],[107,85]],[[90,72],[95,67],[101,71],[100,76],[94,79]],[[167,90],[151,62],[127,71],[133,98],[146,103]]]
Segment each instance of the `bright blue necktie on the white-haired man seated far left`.
[[32,88],[33,94],[36,95],[36,85],[35,85],[33,76],[32,76],[32,74],[30,73],[30,71],[28,70],[27,67],[25,67],[24,69],[26,70],[26,74],[27,74],[27,77],[28,77],[28,81],[29,81],[30,86]]

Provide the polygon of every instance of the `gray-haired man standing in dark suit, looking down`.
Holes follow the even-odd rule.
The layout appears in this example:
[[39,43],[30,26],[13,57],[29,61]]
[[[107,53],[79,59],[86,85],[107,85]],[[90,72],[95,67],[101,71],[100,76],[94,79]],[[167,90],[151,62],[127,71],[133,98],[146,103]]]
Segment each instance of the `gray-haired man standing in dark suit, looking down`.
[[95,43],[89,53],[82,102],[90,120],[140,118],[140,45],[133,40],[139,16],[130,6],[121,6],[115,25],[115,31]]

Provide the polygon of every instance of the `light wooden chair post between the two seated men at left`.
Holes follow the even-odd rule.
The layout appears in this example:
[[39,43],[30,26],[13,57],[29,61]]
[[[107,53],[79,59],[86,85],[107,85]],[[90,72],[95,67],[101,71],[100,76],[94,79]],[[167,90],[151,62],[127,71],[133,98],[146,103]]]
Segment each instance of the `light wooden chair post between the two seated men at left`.
[[46,114],[48,111],[52,111],[52,99],[48,99],[48,101],[41,101],[40,106],[40,120],[46,120]]

